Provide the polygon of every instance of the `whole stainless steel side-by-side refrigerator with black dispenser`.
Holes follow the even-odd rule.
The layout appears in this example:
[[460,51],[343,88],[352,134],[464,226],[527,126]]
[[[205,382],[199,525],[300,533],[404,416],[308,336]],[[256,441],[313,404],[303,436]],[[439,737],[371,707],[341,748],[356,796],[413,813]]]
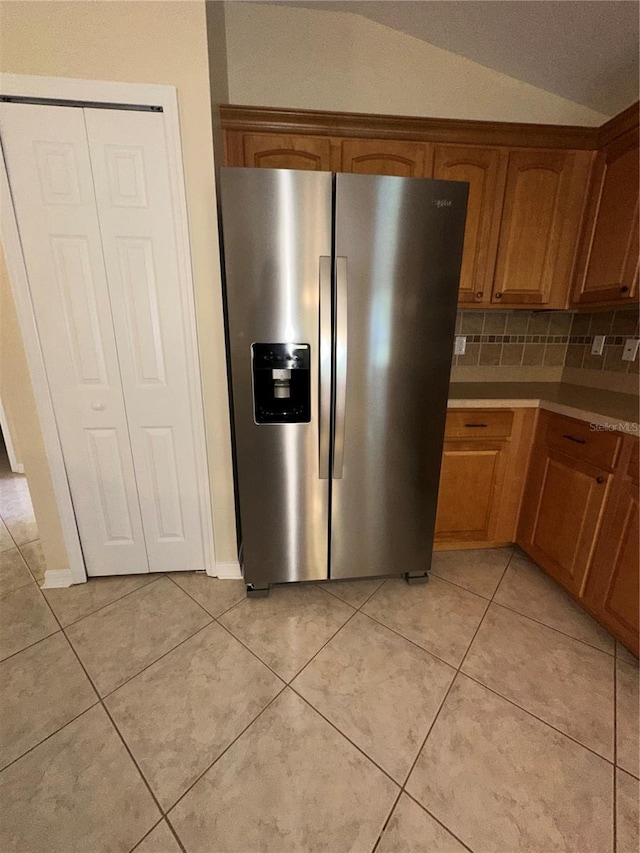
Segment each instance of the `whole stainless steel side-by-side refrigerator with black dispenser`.
[[430,568],[468,185],[223,168],[248,592]]

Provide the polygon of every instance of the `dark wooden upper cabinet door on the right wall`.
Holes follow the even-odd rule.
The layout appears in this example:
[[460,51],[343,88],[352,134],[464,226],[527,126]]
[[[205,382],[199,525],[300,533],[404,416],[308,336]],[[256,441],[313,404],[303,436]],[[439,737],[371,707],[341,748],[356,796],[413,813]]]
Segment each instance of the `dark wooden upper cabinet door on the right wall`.
[[579,304],[637,296],[639,177],[637,142],[611,146],[596,161],[575,298]]

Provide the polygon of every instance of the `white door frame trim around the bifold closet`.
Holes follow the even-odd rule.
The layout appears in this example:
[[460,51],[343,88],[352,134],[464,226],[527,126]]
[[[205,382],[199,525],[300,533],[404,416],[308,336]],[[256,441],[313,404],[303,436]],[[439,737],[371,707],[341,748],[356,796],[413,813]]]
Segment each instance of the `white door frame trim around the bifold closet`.
[[[183,322],[188,352],[189,397],[193,414],[193,439],[198,476],[198,498],[204,569],[215,576],[216,560],[209,491],[208,460],[205,436],[205,413],[200,376],[196,306],[191,265],[191,245],[187,216],[187,196],[184,181],[182,145],[177,92],[174,86],[155,83],[112,83],[103,80],[80,80],[67,77],[38,77],[23,74],[0,74],[0,94],[18,97],[48,98],[56,101],[79,101],[109,105],[159,106],[164,114],[165,144],[169,181],[173,201],[176,254],[182,298]],[[117,106],[115,107],[117,108]],[[53,402],[44,365],[36,324],[27,270],[22,254],[18,223],[4,160],[0,150],[0,238],[4,244],[9,282],[16,304],[18,323],[24,342],[27,364],[33,383],[36,409],[40,419],[45,453],[51,470],[62,534],[69,559],[68,569],[48,569],[43,588],[66,587],[87,580],[80,535],[76,525],[71,491],[58,436]]]

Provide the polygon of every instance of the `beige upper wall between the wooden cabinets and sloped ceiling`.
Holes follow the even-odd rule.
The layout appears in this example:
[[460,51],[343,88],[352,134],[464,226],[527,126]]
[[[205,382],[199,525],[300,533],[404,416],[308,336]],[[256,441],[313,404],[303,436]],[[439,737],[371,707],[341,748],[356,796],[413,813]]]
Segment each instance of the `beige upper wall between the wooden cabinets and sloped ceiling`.
[[233,104],[548,124],[608,118],[349,12],[225,6]]

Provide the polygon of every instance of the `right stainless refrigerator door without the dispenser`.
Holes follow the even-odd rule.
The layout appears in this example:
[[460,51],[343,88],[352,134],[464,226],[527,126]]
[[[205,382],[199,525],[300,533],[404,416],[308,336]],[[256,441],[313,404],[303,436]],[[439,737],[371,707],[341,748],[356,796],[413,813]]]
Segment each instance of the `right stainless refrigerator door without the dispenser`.
[[466,202],[463,183],[336,177],[333,578],[429,569]]

